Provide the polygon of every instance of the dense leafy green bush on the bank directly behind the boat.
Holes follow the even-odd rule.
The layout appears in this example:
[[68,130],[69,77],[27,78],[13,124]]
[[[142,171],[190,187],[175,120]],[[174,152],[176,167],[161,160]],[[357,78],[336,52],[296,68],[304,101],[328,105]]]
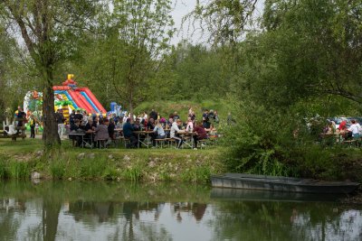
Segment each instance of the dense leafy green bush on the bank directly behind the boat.
[[236,124],[224,130],[224,156],[229,171],[360,180],[354,174],[359,170],[359,157],[353,157],[353,152],[341,145],[319,142],[321,125],[312,133],[302,109],[265,107],[252,102],[243,102],[235,109]]

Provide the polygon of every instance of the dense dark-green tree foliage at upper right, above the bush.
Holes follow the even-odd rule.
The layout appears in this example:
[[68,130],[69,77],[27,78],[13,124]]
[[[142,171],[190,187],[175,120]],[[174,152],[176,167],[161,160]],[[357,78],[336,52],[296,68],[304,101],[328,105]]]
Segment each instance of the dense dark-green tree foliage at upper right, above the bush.
[[290,96],[331,94],[362,103],[361,18],[361,0],[266,1],[266,32],[254,39],[261,47],[255,52],[264,52]]

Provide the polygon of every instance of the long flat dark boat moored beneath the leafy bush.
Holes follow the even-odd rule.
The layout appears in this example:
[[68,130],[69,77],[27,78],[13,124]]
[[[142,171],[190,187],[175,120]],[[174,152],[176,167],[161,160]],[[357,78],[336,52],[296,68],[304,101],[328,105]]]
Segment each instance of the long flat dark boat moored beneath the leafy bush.
[[211,183],[214,188],[345,194],[359,186],[359,183],[351,181],[319,181],[243,173],[212,175]]

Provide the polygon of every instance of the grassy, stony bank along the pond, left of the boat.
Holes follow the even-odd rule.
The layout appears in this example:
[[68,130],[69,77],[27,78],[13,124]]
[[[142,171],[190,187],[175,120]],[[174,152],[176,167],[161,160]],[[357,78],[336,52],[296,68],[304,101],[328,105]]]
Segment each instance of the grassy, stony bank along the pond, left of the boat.
[[0,139],[0,179],[28,179],[34,171],[46,179],[208,181],[224,171],[218,148],[81,149],[63,141],[60,150],[43,153],[42,141]]

